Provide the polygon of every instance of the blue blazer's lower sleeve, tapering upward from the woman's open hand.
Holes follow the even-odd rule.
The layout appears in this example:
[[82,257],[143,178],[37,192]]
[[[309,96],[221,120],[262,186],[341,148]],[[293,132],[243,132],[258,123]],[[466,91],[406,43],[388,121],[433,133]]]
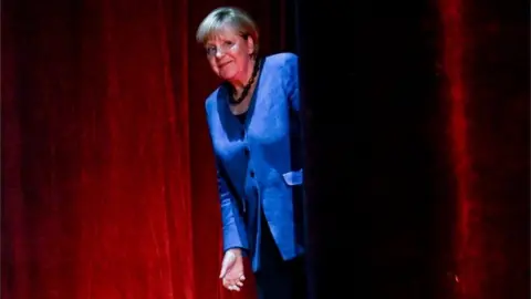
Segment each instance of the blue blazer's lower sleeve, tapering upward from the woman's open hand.
[[221,163],[216,158],[218,193],[221,203],[223,251],[231,248],[249,249],[246,225],[232,196]]

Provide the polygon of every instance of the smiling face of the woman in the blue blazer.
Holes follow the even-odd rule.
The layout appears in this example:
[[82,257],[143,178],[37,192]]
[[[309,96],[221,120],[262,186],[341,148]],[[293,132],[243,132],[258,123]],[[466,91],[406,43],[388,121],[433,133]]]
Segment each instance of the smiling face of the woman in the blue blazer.
[[222,80],[244,78],[254,50],[252,38],[244,39],[230,27],[221,28],[205,44],[212,71]]

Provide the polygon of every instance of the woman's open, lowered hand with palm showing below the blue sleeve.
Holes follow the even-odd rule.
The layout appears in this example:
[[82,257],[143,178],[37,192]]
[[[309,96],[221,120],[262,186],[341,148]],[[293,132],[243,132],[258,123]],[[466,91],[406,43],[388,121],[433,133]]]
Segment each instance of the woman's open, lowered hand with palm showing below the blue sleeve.
[[222,279],[223,287],[228,290],[239,291],[243,287],[243,257],[240,248],[231,248],[225,252],[221,262],[221,272],[219,278]]

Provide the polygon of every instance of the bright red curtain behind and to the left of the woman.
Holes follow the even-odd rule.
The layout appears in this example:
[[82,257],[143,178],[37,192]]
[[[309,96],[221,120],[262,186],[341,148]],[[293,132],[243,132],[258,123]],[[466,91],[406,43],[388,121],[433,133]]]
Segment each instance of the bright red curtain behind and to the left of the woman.
[[[282,2],[240,2],[283,50]],[[194,33],[220,4],[2,2],[2,298],[253,298],[218,280]]]

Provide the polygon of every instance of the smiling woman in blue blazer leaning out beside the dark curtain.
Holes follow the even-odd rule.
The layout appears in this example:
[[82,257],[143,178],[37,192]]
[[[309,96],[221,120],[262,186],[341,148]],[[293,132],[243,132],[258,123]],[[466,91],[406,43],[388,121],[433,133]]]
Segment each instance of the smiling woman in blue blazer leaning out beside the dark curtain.
[[223,83],[206,101],[223,225],[220,278],[243,286],[248,255],[261,299],[305,298],[298,58],[261,58],[254,21],[236,8],[197,31]]

